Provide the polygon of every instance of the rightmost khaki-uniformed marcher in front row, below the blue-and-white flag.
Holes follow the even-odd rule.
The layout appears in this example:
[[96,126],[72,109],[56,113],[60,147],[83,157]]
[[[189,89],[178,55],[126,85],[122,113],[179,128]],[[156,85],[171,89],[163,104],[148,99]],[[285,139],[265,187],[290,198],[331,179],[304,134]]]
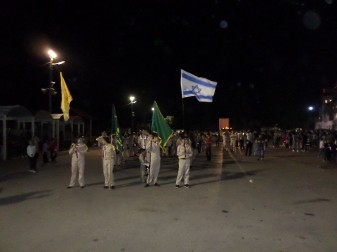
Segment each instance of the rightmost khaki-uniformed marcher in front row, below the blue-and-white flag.
[[179,170],[176,179],[176,188],[180,187],[180,181],[184,178],[185,188],[189,188],[190,164],[193,155],[192,148],[189,144],[187,135],[184,135],[180,145],[177,148],[177,156],[179,158]]

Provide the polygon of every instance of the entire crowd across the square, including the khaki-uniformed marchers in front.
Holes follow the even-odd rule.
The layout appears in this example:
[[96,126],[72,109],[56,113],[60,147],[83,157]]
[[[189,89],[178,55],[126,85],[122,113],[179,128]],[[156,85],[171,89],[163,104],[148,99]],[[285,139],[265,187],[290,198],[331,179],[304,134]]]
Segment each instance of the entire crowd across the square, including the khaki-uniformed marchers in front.
[[[177,157],[179,160],[176,187],[184,180],[184,186],[189,188],[189,172],[197,155],[204,153],[206,160],[212,159],[213,146],[222,147],[223,151],[234,154],[254,156],[262,161],[267,147],[286,148],[292,152],[313,151],[324,161],[335,162],[337,154],[337,132],[333,130],[261,130],[208,132],[194,130],[190,132],[174,132],[164,147],[156,133],[146,130],[138,133],[127,133],[118,144],[114,134],[103,131],[96,138],[101,149],[104,188],[114,188],[113,168],[123,161],[137,157],[140,162],[140,179],[148,187],[151,183],[159,186],[157,180],[160,171],[161,157]],[[27,156],[29,171],[36,173],[39,156],[43,164],[56,161],[58,148],[55,138],[43,140],[35,136],[29,140]],[[77,180],[81,188],[85,187],[84,169],[85,153],[88,147],[84,138],[79,137],[71,144],[71,182],[67,188],[72,188]]]

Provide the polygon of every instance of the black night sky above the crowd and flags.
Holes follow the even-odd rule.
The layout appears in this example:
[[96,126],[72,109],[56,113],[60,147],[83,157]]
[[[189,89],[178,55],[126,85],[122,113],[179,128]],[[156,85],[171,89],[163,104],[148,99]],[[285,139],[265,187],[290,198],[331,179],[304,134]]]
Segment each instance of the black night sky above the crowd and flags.
[[[130,95],[136,124],[155,100],[174,128],[182,102],[186,128],[217,129],[219,117],[236,129],[297,127],[337,83],[334,0],[84,2],[1,2],[0,105],[48,110],[48,48],[66,61],[53,72],[53,111],[62,71],[71,107],[107,129],[112,104],[130,126]],[[182,101],[181,69],[218,82],[213,103]]]

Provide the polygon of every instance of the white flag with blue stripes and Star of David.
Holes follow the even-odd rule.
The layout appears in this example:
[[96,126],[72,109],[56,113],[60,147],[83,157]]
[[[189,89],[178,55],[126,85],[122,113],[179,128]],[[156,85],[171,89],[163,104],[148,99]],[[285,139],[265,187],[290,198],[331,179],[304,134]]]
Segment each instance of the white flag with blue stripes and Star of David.
[[212,102],[217,83],[181,70],[182,98],[195,96],[199,102]]

